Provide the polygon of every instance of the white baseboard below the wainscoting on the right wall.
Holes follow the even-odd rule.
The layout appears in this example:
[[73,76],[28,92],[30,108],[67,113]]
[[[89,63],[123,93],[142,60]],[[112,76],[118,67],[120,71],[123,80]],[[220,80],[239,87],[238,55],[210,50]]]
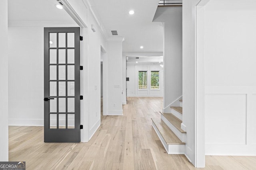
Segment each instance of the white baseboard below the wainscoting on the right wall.
[[205,144],[205,155],[256,156],[256,144]]

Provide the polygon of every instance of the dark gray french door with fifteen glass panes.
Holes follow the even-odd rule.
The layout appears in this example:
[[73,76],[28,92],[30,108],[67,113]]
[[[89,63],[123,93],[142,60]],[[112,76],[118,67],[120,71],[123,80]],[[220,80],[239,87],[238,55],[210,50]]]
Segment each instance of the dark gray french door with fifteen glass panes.
[[44,28],[44,142],[80,142],[80,27]]

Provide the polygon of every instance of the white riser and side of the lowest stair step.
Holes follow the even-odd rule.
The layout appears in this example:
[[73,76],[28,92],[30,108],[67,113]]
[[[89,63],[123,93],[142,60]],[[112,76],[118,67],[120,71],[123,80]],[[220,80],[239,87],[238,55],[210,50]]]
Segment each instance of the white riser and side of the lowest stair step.
[[164,149],[168,154],[184,154],[185,145],[167,145],[154,122],[152,122],[152,127],[156,131],[157,136],[159,137],[161,143],[164,145]]

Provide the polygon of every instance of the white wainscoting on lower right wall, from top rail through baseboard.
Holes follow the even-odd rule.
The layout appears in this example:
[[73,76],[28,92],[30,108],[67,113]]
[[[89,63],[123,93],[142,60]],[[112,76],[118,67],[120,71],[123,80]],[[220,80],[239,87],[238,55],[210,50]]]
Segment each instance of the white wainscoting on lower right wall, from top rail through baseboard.
[[256,86],[206,86],[206,155],[256,155]]

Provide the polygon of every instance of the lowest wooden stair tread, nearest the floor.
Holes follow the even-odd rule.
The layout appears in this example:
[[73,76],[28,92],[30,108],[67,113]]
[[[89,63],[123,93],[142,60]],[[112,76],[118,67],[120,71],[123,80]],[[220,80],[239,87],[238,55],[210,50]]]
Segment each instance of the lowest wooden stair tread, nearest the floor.
[[156,128],[164,138],[164,141],[166,142],[167,145],[184,145],[182,141],[172,132],[171,129],[162,121],[161,119],[158,118],[151,118],[153,123],[156,125]]

